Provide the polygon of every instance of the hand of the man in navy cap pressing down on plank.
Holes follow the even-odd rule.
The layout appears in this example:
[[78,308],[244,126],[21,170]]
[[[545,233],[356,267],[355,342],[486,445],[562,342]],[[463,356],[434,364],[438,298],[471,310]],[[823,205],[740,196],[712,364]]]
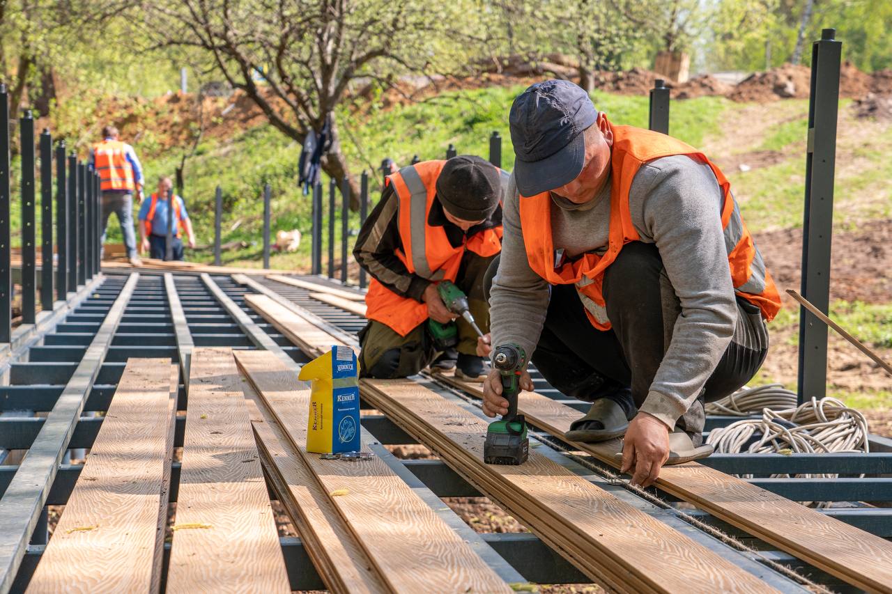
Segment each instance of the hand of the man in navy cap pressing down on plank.
[[657,417],[640,412],[625,432],[622,472],[632,473],[632,484],[649,487],[669,459],[669,428]]

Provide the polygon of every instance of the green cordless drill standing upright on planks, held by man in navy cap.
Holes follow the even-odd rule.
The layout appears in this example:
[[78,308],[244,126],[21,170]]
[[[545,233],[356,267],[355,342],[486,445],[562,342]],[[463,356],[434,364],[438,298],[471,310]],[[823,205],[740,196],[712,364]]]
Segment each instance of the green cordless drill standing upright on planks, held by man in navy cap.
[[526,437],[526,419],[517,414],[520,374],[526,369],[526,353],[516,344],[496,347],[493,366],[501,375],[502,396],[508,400],[508,414],[490,423],[483,442],[486,464],[518,465],[526,462],[530,441]]

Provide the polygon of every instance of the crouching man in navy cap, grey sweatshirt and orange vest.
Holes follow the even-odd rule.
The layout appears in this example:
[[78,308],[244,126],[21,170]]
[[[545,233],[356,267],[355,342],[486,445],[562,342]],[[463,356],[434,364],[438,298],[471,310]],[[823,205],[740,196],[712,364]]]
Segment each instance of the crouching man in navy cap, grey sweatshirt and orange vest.
[[[549,384],[592,402],[566,438],[624,437],[623,472],[647,486],[665,463],[712,452],[704,402],[756,374],[780,296],[727,179],[697,149],[615,126],[563,80],[527,88],[509,123],[491,344],[517,343]],[[533,389],[526,373],[521,384]],[[498,373],[483,392],[487,415],[506,412]]]

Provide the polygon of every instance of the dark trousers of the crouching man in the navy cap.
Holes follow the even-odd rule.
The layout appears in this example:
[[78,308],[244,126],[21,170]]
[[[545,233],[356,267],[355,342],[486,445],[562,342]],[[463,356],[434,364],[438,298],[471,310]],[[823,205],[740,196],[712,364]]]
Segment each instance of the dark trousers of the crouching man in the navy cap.
[[[631,387],[634,407],[644,403],[672,341],[681,304],[652,243],[626,244],[607,268],[603,292],[613,326],[607,331],[591,325],[575,285],[552,285],[532,360],[559,392],[590,402],[611,398],[631,418],[635,410],[624,388]],[[738,317],[735,333],[741,324],[762,323],[759,309],[739,298]],[[746,384],[762,365],[765,347],[756,351],[729,344],[698,400],[676,423],[695,438],[695,445],[706,421],[704,401],[723,398]]]

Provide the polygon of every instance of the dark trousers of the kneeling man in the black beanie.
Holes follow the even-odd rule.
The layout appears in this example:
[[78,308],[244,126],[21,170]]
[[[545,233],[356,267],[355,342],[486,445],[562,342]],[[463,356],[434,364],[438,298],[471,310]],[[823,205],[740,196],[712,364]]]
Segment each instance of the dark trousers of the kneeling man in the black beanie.
[[[490,308],[483,296],[483,277],[494,256],[484,258],[474,252],[465,252],[458,266],[455,284],[467,295],[468,309],[475,322],[485,334],[490,329]],[[458,326],[458,346],[460,353],[474,355],[477,348],[477,333],[464,318],[456,319]],[[359,331],[360,375],[391,379],[415,375],[431,364],[437,351],[427,330],[427,320],[401,336],[389,326],[369,320]]]

